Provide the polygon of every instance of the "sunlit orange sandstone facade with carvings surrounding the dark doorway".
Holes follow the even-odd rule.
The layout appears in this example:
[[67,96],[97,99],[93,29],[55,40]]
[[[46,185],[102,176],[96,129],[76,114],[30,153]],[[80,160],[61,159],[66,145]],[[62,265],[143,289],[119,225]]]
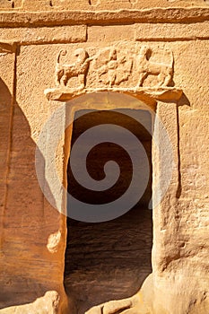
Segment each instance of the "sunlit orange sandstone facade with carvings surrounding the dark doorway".
[[[0,1],[0,11],[0,312],[76,313],[80,300],[80,312],[91,314],[208,313],[207,1],[13,0]],[[75,51],[84,52],[88,63],[79,74],[82,59]],[[74,67],[65,73],[62,65]],[[93,98],[92,92],[97,92]],[[119,105],[111,92],[122,95]],[[62,107],[72,98],[72,105]],[[111,247],[106,270],[100,269],[105,250],[95,267],[91,263],[102,238],[99,224],[72,222],[72,229],[66,224],[64,188],[74,126],[65,127],[76,110],[144,106],[155,117],[148,150],[152,220],[146,220],[146,212],[140,231],[131,212],[119,226],[110,222],[121,234],[127,222],[134,230],[129,262],[121,249],[123,275],[105,228],[102,245]],[[140,259],[137,247],[148,225],[144,251],[150,254],[152,246],[152,267],[149,257]],[[110,232],[112,241],[116,234]],[[81,253],[90,260],[81,262]],[[71,255],[74,259],[68,259]],[[83,278],[91,290],[90,266],[99,278],[95,300],[84,286],[78,288]],[[101,278],[109,284],[105,272],[112,294],[99,283]]]

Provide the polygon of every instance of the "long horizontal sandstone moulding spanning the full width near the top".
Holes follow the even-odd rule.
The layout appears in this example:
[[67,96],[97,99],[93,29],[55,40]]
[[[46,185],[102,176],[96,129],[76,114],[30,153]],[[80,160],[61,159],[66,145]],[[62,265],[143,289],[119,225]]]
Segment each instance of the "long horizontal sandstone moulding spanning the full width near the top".
[[153,8],[116,11],[1,12],[0,27],[54,26],[73,24],[114,24],[126,22],[203,22],[209,8]]

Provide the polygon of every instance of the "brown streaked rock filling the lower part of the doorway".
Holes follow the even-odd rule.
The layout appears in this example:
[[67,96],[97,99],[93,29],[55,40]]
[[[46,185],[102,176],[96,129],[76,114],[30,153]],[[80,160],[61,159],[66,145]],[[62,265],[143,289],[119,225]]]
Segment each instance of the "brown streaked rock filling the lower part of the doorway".
[[65,290],[78,313],[132,296],[152,272],[152,211],[136,207],[96,224],[69,220],[68,228]]

